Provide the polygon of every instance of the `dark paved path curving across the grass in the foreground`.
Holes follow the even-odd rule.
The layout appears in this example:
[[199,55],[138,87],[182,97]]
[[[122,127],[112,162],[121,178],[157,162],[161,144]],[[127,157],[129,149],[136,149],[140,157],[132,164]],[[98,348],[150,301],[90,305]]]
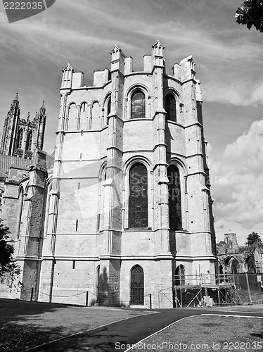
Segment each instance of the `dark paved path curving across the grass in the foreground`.
[[[159,331],[163,327],[176,322],[181,318],[199,314],[217,314],[217,315],[250,315],[263,317],[263,313],[236,312],[236,311],[220,311],[210,309],[168,309],[155,310],[159,313],[150,315],[141,315],[139,317],[122,320],[105,327],[97,328],[83,334],[78,334],[73,337],[68,337],[60,341],[46,344],[38,348],[32,348],[34,352],[124,352],[125,348],[120,348],[122,345],[132,345],[148,335]],[[120,343],[115,345],[116,343]],[[119,347],[118,349],[116,348]],[[124,347],[124,346],[122,346]]]

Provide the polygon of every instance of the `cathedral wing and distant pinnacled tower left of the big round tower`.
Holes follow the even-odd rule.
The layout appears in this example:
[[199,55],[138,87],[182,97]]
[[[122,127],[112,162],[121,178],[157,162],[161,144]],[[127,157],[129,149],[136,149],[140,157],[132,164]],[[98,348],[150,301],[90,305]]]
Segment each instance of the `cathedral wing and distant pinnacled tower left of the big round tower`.
[[[1,297],[30,299],[37,289],[43,237],[46,180],[53,157],[41,151],[46,110],[43,106],[31,122],[20,119],[18,94],[4,122],[0,153],[0,216],[11,230],[14,258],[20,277],[1,284]],[[31,137],[30,137],[31,136]],[[22,291],[18,281],[22,283]],[[30,289],[25,289],[25,285]]]

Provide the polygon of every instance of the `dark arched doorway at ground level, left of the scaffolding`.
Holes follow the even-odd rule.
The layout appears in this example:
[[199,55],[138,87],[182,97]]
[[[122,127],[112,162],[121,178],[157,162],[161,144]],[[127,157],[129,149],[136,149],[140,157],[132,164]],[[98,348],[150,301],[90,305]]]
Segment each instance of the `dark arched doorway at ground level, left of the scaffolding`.
[[140,265],[131,269],[131,306],[144,306],[144,274]]

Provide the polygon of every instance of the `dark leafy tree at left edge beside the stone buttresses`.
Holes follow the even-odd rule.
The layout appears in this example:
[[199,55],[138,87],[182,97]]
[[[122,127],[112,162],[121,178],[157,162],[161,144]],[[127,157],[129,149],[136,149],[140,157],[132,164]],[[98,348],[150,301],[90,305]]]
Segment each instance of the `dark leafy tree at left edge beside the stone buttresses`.
[[8,243],[9,234],[11,234],[9,227],[0,219],[0,282],[11,282],[12,285],[13,279],[20,273],[20,267],[13,262],[14,249]]

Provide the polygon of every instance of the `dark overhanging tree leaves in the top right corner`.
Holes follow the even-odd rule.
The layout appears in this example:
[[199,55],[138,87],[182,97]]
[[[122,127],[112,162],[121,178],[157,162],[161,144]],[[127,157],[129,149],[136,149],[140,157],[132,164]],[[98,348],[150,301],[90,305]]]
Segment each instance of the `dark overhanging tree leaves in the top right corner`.
[[235,17],[238,25],[247,25],[249,30],[254,25],[256,30],[263,32],[263,0],[245,0],[236,10]]

